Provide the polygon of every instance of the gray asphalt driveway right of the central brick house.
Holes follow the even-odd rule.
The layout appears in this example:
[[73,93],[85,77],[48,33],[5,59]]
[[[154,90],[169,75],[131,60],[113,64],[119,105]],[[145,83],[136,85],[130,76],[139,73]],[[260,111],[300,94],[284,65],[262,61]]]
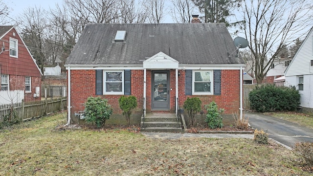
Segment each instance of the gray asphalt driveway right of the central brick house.
[[291,148],[296,142],[313,142],[313,129],[261,113],[246,112],[245,116],[249,117],[252,128],[263,129],[269,138]]

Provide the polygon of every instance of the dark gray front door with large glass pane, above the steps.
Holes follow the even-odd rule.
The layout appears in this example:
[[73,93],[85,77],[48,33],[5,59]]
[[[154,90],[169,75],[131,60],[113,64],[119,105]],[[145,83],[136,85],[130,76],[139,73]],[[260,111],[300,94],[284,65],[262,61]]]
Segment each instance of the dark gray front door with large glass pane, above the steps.
[[169,110],[169,71],[152,71],[152,110]]

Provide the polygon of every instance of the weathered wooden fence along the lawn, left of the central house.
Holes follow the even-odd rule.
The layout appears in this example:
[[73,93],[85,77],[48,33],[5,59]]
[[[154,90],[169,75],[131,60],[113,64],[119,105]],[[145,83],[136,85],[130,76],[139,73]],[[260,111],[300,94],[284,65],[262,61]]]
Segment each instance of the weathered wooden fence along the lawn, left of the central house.
[[67,108],[67,98],[58,98],[51,100],[42,100],[35,102],[24,102],[0,105],[0,122],[3,122],[4,116],[13,109],[18,117],[24,121],[35,117],[41,117],[50,112],[65,110]]

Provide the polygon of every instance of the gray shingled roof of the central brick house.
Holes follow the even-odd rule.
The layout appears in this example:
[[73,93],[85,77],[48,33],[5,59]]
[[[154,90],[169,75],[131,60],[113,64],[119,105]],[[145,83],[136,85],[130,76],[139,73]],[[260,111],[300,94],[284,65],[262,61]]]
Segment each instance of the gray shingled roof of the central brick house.
[[244,64],[235,50],[224,23],[88,24],[66,65],[142,64],[160,51],[179,64]]

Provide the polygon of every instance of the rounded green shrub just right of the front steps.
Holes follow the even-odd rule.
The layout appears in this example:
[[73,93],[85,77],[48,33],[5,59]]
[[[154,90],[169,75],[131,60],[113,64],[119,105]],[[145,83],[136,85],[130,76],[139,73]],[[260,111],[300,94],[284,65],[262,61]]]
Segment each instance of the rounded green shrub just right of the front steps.
[[189,125],[194,127],[196,125],[196,114],[201,110],[201,100],[198,97],[187,98],[184,102],[184,110],[187,110],[189,116]]

